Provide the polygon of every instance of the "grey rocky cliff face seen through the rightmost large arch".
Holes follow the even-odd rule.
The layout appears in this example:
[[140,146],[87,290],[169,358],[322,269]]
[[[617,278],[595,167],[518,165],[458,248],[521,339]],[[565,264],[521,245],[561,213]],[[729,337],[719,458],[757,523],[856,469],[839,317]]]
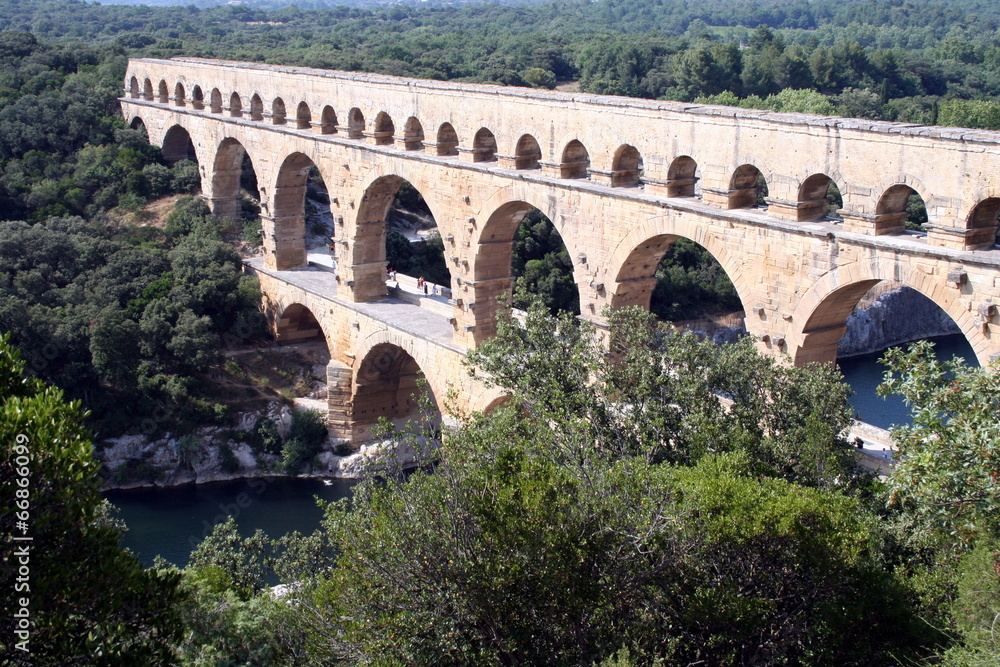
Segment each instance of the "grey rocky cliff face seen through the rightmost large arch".
[[909,287],[900,287],[886,292],[868,308],[851,313],[837,356],[868,354],[955,333],[961,333],[958,325],[933,301]]

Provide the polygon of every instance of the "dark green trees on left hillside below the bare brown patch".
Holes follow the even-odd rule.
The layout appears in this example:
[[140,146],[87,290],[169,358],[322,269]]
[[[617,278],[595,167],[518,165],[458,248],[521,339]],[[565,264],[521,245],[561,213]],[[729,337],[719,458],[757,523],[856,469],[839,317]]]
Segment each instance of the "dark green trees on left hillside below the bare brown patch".
[[0,330],[105,434],[163,405],[173,419],[201,415],[192,376],[218,361],[223,335],[260,333],[256,280],[204,213],[179,200],[172,219],[194,222],[174,247],[80,219],[0,223]]

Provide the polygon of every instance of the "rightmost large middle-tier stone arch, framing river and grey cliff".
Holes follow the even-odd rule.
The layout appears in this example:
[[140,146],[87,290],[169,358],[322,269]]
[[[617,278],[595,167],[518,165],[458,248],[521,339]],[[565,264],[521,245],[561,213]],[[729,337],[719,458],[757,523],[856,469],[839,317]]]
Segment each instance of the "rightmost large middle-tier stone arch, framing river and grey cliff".
[[962,305],[957,290],[948,288],[942,276],[883,259],[842,266],[809,288],[792,315],[792,322],[802,325],[793,328],[788,336],[787,349],[795,365],[835,362],[837,344],[847,331],[847,316],[865,292],[883,280],[910,287],[937,304],[965,334],[979,362],[984,366],[989,362],[989,341],[975,326],[974,316]]

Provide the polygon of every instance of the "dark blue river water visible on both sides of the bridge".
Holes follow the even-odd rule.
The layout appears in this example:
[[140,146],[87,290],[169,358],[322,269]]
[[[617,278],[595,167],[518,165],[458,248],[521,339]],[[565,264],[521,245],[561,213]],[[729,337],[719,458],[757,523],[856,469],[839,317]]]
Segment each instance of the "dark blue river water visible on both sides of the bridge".
[[[975,356],[962,335],[934,339],[939,356],[961,356],[975,363]],[[866,354],[838,361],[846,381],[854,389],[851,399],[861,419],[888,428],[909,421],[902,399],[883,399],[875,394],[884,367],[882,353]],[[243,535],[257,528],[271,537],[298,530],[311,533],[319,526],[322,513],[314,496],[337,500],[351,493],[350,480],[331,480],[330,485],[315,479],[266,478],[215,482],[170,488],[112,491],[106,497],[120,510],[128,526],[124,544],[146,565],[159,554],[178,566],[188,562],[191,549],[211,532],[215,523],[232,515]]]

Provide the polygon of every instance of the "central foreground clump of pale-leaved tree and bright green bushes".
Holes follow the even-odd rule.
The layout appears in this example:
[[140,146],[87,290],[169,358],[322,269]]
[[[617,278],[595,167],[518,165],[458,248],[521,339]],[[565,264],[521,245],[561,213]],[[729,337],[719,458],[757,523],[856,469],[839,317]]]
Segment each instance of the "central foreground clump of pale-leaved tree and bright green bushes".
[[[510,402],[436,441],[433,471],[378,468],[299,552],[288,574],[310,654],[576,665],[627,647],[641,663],[876,664],[918,647],[873,518],[835,490],[841,471],[795,472],[748,445],[766,431],[795,458],[818,451],[807,431],[826,432],[815,410],[837,403],[830,385],[796,397],[744,368],[729,387],[740,426],[723,430],[700,378],[731,369],[710,344],[661,333],[631,313],[605,356],[537,303],[523,326],[502,321],[473,361]],[[818,478],[830,490],[789,481]],[[303,557],[324,549],[335,567]]]

